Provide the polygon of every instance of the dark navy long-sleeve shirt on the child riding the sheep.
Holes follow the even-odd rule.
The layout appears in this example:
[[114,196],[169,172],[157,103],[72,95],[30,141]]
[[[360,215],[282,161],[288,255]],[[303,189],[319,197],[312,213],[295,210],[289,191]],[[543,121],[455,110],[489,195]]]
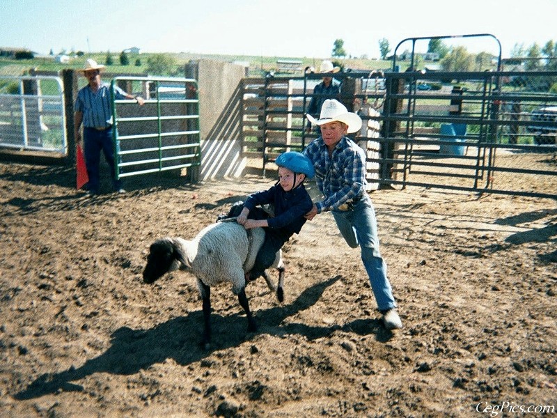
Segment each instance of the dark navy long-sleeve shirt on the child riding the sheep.
[[313,202],[304,185],[299,185],[290,192],[285,192],[281,185],[274,185],[268,190],[249,196],[244,208],[253,210],[258,205],[271,203],[274,206],[274,217],[267,222],[270,229],[281,230],[282,235],[299,233],[306,223],[307,212],[313,207]]

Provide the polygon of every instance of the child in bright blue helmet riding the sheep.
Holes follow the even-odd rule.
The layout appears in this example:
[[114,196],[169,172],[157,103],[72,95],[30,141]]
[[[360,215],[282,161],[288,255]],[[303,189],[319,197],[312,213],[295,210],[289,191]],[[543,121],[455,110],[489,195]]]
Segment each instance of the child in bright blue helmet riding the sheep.
[[[313,178],[313,164],[296,151],[278,155],[278,181],[268,190],[251,194],[244,203],[236,222],[245,229],[261,226],[265,229],[265,241],[258,251],[251,272],[246,272],[246,282],[257,279],[269,268],[276,252],[283,247],[294,233],[299,233],[306,223],[305,215],[313,205],[304,187],[306,177]],[[268,219],[248,219],[249,212],[256,206],[270,204],[273,217]]]

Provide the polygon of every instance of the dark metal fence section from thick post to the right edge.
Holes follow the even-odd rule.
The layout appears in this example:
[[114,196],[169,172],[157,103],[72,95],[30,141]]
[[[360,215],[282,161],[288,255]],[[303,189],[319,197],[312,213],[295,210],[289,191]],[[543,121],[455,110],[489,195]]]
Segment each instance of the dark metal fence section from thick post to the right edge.
[[552,121],[536,120],[557,103],[550,91],[557,72],[386,77],[380,184],[557,196],[557,112]]

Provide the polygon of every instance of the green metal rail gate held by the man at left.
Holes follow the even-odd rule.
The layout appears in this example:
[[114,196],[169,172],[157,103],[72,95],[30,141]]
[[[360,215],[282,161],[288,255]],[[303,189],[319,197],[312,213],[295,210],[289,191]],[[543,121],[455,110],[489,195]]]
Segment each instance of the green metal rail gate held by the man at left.
[[[145,104],[115,100],[117,85],[139,93]],[[115,77],[111,91],[116,178],[201,165],[195,79]]]

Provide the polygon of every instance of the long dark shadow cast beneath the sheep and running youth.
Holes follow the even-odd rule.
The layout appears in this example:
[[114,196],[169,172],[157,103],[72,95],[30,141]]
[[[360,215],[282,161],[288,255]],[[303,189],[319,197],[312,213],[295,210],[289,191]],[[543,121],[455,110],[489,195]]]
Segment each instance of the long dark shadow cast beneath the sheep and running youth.
[[[285,318],[308,309],[320,299],[327,287],[334,284],[340,276],[332,277],[315,284],[302,292],[292,304],[272,307],[258,312],[259,334],[283,335],[299,334],[313,340],[327,336],[336,330],[347,330],[357,334],[375,334],[378,341],[388,341],[392,334],[380,325],[379,320],[355,320],[344,327],[316,327],[301,323],[281,325]],[[223,317],[212,314],[213,343],[210,350],[203,350],[201,328],[203,314],[192,312],[159,324],[150,330],[132,330],[121,327],[111,335],[111,346],[102,355],[88,360],[79,368],[70,367],[60,373],[45,373],[13,397],[17,400],[38,398],[58,390],[81,392],[84,387],[73,383],[75,380],[91,376],[93,373],[113,373],[130,375],[152,364],[162,363],[172,358],[180,365],[198,362],[214,350],[238,346],[255,334],[246,334],[244,314]],[[216,338],[215,338],[216,337]]]

